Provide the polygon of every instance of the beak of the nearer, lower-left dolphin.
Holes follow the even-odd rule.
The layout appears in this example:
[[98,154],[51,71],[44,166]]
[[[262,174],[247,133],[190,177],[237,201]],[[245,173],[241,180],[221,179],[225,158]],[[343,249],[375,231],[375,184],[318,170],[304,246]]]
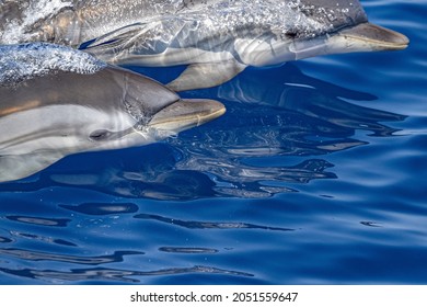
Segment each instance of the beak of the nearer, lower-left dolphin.
[[208,123],[224,113],[224,105],[218,101],[182,99],[155,113],[148,126],[178,133]]

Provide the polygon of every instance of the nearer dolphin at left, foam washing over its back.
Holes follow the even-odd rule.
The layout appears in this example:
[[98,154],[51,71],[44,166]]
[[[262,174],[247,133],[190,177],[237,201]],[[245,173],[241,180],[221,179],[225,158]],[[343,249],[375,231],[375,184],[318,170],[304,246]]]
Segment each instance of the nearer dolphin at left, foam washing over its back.
[[0,182],[67,155],[140,146],[224,113],[157,81],[46,43],[0,46]]

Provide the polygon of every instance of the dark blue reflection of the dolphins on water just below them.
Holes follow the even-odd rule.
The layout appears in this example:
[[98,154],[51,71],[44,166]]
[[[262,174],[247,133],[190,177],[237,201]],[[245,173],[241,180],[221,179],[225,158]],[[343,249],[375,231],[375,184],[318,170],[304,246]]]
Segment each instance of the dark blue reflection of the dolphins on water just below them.
[[[1,184],[0,190],[73,186],[158,200],[267,197],[296,192],[296,184],[311,180],[335,179],[326,154],[366,145],[355,138],[356,130],[393,136],[396,129],[383,122],[405,118],[359,106],[350,101],[376,96],[311,78],[291,64],[252,70],[218,88],[183,93],[227,104],[227,114],[209,125],[161,144],[69,157],[33,178]],[[263,82],[266,79],[270,81]],[[91,214],[105,212],[99,207]]]

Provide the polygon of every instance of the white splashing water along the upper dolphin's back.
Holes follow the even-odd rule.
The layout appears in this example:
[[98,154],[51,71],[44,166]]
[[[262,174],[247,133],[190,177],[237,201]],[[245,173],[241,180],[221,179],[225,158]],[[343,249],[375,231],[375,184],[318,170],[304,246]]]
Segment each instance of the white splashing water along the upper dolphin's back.
[[[351,16],[355,14],[355,7],[360,7],[345,4],[324,8],[316,1],[305,2],[300,0],[9,0],[5,5],[2,5],[3,12],[0,12],[1,20],[7,21],[5,24],[0,24],[0,42],[18,44],[50,39],[64,44],[71,44],[71,42],[81,44],[123,26],[153,22],[164,24],[166,30],[171,26],[171,22],[177,23],[177,27],[188,22],[198,33],[210,34],[214,31],[220,36],[240,31],[247,32],[246,34],[270,31],[281,38],[288,34],[292,37],[313,37],[328,33],[335,26],[349,25],[347,23],[354,20]],[[69,12],[67,16],[62,14],[65,11]],[[73,35],[67,27],[77,21],[81,23],[78,37],[44,36],[46,34],[44,26],[59,27],[56,29],[57,36]]]

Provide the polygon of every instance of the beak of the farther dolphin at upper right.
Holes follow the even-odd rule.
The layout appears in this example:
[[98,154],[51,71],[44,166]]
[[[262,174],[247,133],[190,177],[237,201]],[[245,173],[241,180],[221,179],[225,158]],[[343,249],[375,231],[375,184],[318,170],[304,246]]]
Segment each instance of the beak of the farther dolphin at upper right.
[[370,50],[401,50],[409,44],[405,35],[369,22],[344,29],[338,36],[347,41],[347,44]]

